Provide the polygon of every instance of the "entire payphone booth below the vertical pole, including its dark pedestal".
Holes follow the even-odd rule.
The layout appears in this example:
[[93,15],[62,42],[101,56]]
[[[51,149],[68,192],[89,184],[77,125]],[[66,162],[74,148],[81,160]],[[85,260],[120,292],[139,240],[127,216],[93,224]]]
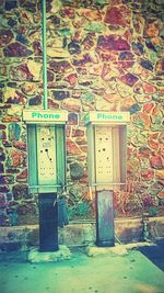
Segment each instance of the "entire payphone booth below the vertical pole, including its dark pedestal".
[[58,250],[57,194],[66,187],[66,111],[25,110],[28,189],[38,193],[39,251]]

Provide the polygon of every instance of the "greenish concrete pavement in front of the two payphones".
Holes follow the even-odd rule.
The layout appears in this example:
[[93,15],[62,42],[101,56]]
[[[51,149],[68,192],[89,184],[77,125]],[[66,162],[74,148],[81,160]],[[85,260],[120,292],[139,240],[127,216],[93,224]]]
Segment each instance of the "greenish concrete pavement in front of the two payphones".
[[30,263],[21,253],[1,255],[2,293],[164,293],[164,272],[138,250],[127,255]]

